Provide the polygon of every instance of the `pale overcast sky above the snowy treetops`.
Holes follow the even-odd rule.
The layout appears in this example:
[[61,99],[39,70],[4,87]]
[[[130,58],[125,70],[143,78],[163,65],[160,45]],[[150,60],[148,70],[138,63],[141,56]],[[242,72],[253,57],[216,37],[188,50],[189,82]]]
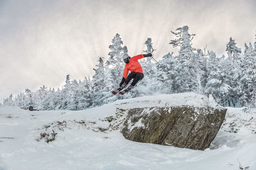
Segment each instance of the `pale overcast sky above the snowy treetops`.
[[242,48],[255,41],[256,1],[0,0],[0,103],[27,88],[61,87],[67,74],[92,77],[116,33],[129,55],[152,38],[161,59],[177,52],[170,31],[184,25],[195,48],[220,56],[230,36]]

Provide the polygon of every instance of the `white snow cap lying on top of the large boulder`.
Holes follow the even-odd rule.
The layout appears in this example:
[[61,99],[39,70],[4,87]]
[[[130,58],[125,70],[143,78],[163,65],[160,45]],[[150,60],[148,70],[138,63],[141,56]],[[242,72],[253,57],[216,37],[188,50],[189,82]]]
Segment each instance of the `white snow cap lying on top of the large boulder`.
[[213,97],[207,97],[205,95],[196,94],[194,92],[136,97],[132,99],[115,101],[113,104],[118,106],[125,106],[125,108],[145,108],[154,106],[194,106],[202,108],[205,106],[218,106],[218,103],[214,101]]

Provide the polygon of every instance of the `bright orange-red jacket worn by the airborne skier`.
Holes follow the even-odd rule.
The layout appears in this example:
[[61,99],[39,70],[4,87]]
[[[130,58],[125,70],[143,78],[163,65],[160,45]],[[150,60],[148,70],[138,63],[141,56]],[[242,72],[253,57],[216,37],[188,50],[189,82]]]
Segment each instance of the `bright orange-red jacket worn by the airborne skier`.
[[140,66],[140,62],[138,62],[138,59],[143,59],[143,54],[136,55],[134,57],[131,57],[128,64],[125,64],[124,67],[124,74],[123,77],[127,78],[127,74],[129,71],[135,72],[135,73],[143,73],[142,67]]

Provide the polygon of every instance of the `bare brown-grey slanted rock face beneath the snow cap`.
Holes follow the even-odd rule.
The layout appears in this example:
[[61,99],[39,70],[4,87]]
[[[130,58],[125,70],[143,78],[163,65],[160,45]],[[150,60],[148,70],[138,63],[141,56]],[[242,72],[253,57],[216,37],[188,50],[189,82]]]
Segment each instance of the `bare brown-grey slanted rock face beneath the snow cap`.
[[226,109],[173,106],[128,110],[122,134],[126,139],[205,150],[218,133]]

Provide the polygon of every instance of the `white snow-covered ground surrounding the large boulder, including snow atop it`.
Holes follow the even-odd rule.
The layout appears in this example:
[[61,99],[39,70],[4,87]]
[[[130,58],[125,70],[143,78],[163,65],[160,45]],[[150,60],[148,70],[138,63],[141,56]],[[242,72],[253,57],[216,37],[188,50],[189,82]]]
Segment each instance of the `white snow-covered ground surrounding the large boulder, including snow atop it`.
[[[83,111],[28,111],[0,106],[0,169],[256,169],[256,110],[228,108],[216,139],[205,151],[125,139],[109,126],[116,108],[216,106],[193,93],[144,96]],[[123,117],[116,117],[118,119]],[[58,123],[59,122],[59,123]],[[59,125],[59,126],[58,126]],[[36,141],[45,127],[56,140]]]

